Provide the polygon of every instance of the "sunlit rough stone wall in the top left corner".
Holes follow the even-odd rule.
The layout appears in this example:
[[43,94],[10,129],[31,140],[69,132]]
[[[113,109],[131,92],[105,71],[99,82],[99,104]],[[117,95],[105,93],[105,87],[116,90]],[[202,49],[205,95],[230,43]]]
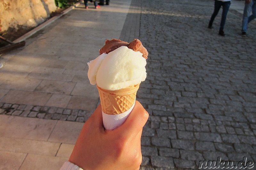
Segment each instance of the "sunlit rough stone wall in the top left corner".
[[36,27],[56,9],[54,0],[0,0],[0,32]]

